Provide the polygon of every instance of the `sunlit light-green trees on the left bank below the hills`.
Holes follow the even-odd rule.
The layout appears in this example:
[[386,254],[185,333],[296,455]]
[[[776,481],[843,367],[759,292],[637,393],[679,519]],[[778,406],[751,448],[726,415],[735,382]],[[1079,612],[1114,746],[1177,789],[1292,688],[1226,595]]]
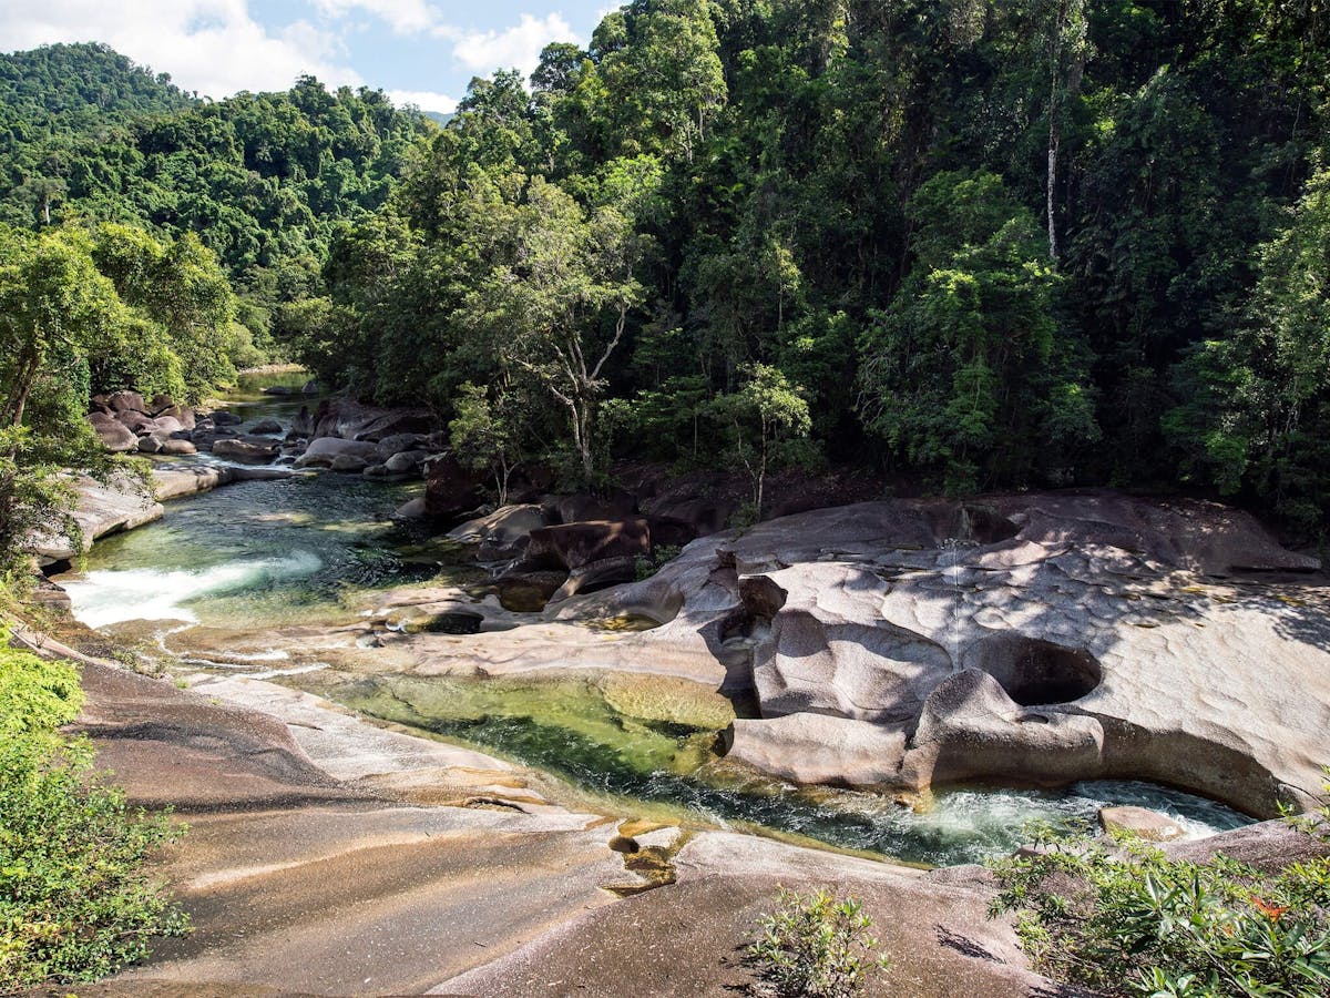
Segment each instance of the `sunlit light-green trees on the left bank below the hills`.
[[213,254],[186,233],[33,233],[0,224],[0,580],[35,532],[77,535],[65,474],[133,471],[85,419],[89,395],[134,387],[193,401],[255,354]]

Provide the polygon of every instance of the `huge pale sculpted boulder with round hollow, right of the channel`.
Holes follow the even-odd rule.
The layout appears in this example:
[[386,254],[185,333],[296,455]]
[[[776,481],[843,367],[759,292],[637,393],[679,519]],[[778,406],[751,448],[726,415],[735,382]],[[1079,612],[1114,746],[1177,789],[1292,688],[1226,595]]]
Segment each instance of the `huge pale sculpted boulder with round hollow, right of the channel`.
[[[524,566],[598,564],[610,552],[580,530],[533,531]],[[697,540],[649,579],[547,612],[660,620],[576,659],[753,703],[735,758],[782,778],[902,792],[1142,778],[1270,816],[1321,788],[1330,584],[1315,568],[1210,503],[902,499]],[[535,635],[521,648],[467,655],[524,669],[556,653]],[[821,728],[845,737],[814,753]]]

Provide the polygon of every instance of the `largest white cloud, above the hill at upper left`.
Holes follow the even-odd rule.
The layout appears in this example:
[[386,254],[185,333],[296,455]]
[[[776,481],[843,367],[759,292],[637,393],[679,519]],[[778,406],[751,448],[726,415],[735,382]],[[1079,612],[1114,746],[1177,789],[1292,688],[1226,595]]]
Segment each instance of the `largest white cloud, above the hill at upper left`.
[[56,41],[104,41],[210,97],[285,90],[302,73],[330,85],[362,83],[338,61],[336,36],[307,21],[270,31],[250,16],[246,0],[0,3],[0,49]]

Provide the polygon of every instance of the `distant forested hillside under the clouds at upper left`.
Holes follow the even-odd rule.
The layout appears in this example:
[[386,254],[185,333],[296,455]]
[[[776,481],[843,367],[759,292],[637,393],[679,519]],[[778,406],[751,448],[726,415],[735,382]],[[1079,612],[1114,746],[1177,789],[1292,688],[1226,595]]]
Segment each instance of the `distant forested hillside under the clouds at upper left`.
[[319,293],[332,228],[380,208],[432,130],[379,90],[313,79],[209,102],[102,45],[0,56],[0,221],[194,233],[271,350],[293,303]]

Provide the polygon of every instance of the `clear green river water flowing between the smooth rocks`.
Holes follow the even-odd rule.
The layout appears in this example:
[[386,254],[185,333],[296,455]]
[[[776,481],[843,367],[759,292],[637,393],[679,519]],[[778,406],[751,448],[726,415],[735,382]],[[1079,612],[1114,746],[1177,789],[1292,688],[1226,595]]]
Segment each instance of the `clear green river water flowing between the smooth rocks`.
[[[250,378],[229,401],[246,426],[266,418],[289,426],[302,399],[267,397],[261,389],[302,379]],[[420,487],[331,472],[226,486],[168,504],[162,520],[100,542],[85,568],[60,582],[76,616],[90,627],[126,640],[169,639],[188,665],[273,679],[515,758],[618,812],[636,808],[810,837],[927,864],[1001,854],[1020,842],[1021,826],[1032,818],[1092,820],[1107,804],[1168,813],[1193,834],[1249,821],[1224,805],[1130,781],[1063,790],[942,789],[916,813],[880,794],[795,788],[725,762],[714,748],[732,717],[728,705],[704,693],[676,711],[672,697],[682,687],[670,681],[649,687],[644,699],[638,680],[613,675],[427,677],[391,664],[374,675],[363,665],[350,672],[331,661],[325,667],[317,648],[298,653],[287,643],[265,649],[265,632],[350,624],[376,593],[439,575],[438,552],[390,520]],[[462,582],[468,570],[443,571]],[[247,651],[218,655],[225,636],[243,637]],[[372,661],[371,649],[366,657]]]

